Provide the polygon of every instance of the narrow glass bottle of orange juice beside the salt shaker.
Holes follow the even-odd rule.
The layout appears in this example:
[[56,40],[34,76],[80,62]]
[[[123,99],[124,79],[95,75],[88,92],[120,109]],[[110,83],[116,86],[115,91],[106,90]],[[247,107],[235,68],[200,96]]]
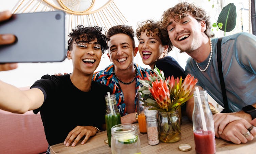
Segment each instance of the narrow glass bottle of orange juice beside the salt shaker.
[[144,103],[140,99],[142,99],[141,93],[138,92],[138,102],[137,102],[138,123],[139,123],[140,132],[145,134],[147,133],[146,117],[144,114],[144,106],[143,106]]

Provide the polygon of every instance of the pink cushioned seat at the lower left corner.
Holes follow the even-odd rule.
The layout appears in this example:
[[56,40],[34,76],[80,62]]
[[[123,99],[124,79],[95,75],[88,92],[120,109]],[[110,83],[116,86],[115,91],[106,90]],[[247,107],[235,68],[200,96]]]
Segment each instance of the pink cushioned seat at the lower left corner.
[[47,150],[40,113],[0,110],[0,153],[38,154]]

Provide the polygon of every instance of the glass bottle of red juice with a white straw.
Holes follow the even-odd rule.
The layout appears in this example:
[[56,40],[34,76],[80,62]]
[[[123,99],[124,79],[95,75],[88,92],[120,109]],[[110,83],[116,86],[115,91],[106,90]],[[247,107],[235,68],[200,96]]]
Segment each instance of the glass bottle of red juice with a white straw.
[[199,93],[200,97],[197,96],[196,91],[194,92],[192,116],[195,148],[198,154],[214,154],[216,149],[213,114],[208,104],[206,91],[199,91]]

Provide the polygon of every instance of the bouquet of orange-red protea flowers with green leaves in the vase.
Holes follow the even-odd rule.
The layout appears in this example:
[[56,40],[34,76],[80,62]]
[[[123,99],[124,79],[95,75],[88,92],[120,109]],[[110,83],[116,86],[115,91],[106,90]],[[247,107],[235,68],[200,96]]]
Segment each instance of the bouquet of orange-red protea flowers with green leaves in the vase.
[[142,93],[145,105],[151,105],[160,111],[174,111],[193,96],[189,94],[198,79],[188,74],[183,82],[182,77],[174,79],[171,76],[165,80],[162,71],[156,67],[153,71],[154,74],[146,74],[144,79],[139,79],[143,84],[139,92]]

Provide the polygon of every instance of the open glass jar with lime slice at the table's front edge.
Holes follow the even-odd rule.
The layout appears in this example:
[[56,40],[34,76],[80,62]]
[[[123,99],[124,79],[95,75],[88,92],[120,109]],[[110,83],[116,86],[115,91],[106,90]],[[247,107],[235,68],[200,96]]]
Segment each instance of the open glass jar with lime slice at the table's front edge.
[[141,142],[134,124],[120,124],[111,128],[112,154],[141,154]]

